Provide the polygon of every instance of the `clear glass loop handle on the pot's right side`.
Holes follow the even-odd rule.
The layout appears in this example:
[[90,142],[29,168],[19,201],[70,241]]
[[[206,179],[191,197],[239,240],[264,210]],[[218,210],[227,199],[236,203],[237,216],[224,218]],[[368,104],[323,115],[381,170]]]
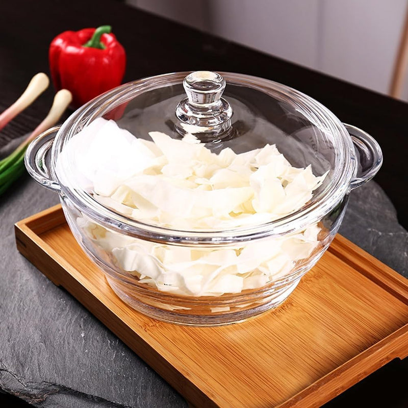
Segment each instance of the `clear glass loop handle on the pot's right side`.
[[343,123],[354,145],[357,171],[351,180],[351,190],[370,181],[382,164],[382,151],[376,140],[358,127]]

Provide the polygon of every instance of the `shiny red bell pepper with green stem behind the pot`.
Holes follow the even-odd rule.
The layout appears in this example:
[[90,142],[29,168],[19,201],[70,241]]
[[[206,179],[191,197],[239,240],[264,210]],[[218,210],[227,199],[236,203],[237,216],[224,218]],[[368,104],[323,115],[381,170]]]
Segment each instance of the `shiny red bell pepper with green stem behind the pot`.
[[74,108],[122,82],[126,55],[110,32],[109,25],[65,31],[50,44],[49,67],[54,86],[57,91],[71,91]]

